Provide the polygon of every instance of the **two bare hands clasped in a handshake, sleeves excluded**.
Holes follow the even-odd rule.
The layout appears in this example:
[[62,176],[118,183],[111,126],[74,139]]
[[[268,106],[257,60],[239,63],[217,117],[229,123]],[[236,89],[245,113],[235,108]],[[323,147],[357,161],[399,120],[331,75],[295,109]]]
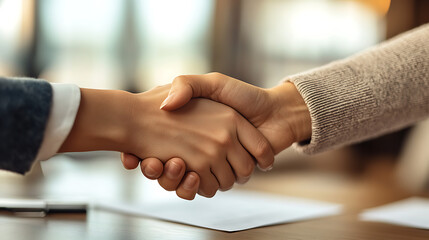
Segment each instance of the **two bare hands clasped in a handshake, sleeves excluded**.
[[81,89],[60,152],[113,150],[126,169],[184,199],[212,197],[247,182],[257,165],[311,137],[310,114],[294,84],[262,89],[220,73],[179,76],[132,94]]

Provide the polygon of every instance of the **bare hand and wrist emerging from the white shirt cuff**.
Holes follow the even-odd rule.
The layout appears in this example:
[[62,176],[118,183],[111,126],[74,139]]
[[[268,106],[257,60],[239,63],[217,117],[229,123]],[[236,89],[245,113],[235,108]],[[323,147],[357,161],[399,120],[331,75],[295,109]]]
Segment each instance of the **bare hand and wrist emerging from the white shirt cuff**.
[[[246,181],[254,159],[262,166],[272,165],[274,154],[268,141],[235,110],[193,99],[177,111],[162,111],[159,106],[169,89],[158,87],[141,94],[82,89],[75,124],[60,152],[132,153],[147,160],[141,168],[152,179],[159,177],[162,163],[170,160],[160,183],[167,190],[181,186],[186,196],[189,190],[198,189],[200,195],[212,197],[219,189],[230,189],[236,180]],[[185,169],[179,158],[185,159]],[[162,163],[156,163],[157,159]],[[123,163],[133,168],[138,161]],[[193,173],[183,181],[171,181],[183,178],[185,170]]]

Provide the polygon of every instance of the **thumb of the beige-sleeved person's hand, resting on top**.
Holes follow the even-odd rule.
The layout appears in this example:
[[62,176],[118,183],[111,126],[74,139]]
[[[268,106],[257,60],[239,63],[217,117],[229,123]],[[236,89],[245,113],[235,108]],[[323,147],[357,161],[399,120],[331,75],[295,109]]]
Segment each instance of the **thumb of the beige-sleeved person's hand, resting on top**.
[[195,97],[212,98],[217,89],[224,84],[222,78],[217,78],[216,81],[213,81],[213,75],[221,74],[209,73],[176,77],[171,84],[167,98],[162,102],[160,108],[172,111],[184,106]]

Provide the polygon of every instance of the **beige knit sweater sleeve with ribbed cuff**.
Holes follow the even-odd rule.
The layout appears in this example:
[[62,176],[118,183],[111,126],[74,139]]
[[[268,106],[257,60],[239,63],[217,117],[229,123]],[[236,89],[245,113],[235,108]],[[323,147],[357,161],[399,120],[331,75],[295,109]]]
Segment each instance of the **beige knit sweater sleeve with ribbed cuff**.
[[311,141],[295,145],[304,153],[412,125],[429,117],[429,24],[288,80],[310,110]]

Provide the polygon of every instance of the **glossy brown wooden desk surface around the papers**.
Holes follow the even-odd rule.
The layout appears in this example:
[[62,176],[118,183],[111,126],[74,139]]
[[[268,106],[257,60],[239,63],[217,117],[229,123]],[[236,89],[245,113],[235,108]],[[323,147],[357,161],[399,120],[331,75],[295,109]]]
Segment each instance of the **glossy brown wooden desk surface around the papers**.
[[[137,170],[122,169],[116,154],[56,157],[43,163],[43,175],[37,168],[26,177],[0,173],[0,197],[138,200],[163,192]],[[429,239],[427,230],[358,220],[362,209],[411,196],[387,178],[383,173],[364,178],[308,171],[256,173],[238,188],[341,203],[345,211],[339,216],[236,233],[93,209],[86,215],[45,218],[3,214],[0,239]]]

